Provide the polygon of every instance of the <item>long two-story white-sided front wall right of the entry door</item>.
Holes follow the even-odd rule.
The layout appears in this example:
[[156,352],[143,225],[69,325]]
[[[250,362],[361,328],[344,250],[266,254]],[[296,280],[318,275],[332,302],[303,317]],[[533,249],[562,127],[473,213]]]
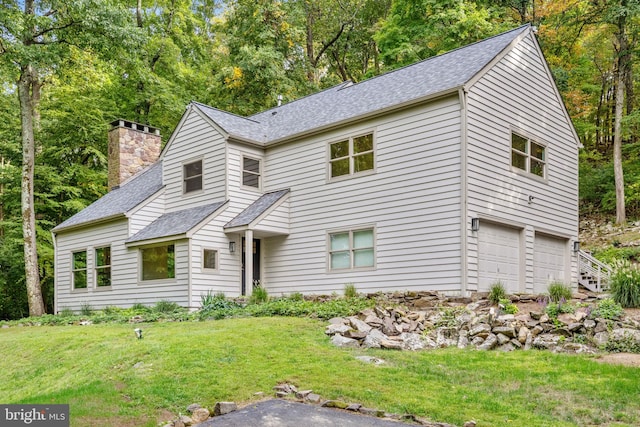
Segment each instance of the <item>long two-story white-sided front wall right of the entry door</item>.
[[[368,131],[375,173],[330,181],[328,144]],[[266,171],[269,190],[291,188],[290,235],[263,240],[270,292],[460,289],[457,97],[274,147]],[[375,269],[329,272],[328,232],[362,227],[375,228]]]

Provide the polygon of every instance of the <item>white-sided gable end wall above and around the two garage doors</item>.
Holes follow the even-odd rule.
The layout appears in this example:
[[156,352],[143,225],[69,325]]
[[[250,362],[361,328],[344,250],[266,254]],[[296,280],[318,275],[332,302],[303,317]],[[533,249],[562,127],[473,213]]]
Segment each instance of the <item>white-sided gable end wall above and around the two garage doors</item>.
[[[534,279],[535,232],[544,230],[565,239],[575,239],[578,233],[578,142],[531,37],[524,38],[469,90],[467,121],[469,218],[522,224],[521,268],[527,289]],[[512,131],[546,145],[546,180],[512,170]],[[469,289],[475,290],[477,235],[470,227],[467,230]],[[569,266],[575,281],[575,259]]]

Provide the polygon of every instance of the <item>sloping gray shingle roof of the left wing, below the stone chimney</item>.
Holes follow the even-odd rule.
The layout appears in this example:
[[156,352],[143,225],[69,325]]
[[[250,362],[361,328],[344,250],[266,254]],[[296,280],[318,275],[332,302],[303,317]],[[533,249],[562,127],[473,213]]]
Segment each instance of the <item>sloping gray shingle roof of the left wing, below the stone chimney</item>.
[[71,218],[59,224],[52,231],[124,215],[162,188],[162,162],[156,162],[135,175],[119,188],[111,190]]

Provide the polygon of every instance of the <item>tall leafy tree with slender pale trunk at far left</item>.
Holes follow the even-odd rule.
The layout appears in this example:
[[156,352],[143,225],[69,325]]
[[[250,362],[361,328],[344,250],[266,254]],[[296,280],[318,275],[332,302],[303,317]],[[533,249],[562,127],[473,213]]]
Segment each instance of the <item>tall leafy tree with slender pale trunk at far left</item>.
[[[22,7],[21,7],[22,6]],[[73,45],[108,52],[107,39],[126,43],[131,21],[118,4],[97,0],[5,0],[0,8],[0,68],[15,79],[22,142],[21,216],[29,314],[40,316],[42,298],[36,242],[35,156],[40,148],[43,85]],[[103,48],[104,50],[101,50]]]

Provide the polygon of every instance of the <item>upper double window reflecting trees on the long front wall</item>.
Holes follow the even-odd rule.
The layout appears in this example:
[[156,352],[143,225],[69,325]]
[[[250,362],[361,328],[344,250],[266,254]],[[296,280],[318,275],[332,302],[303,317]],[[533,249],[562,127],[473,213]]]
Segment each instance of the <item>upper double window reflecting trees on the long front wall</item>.
[[331,178],[373,170],[373,133],[329,144]]

